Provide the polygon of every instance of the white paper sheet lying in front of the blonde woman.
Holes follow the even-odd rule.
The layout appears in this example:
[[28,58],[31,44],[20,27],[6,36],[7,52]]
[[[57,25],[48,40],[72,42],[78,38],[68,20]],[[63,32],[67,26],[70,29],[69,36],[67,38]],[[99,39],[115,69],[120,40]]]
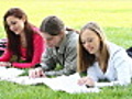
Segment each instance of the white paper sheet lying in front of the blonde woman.
[[63,90],[69,94],[78,92],[99,92],[99,88],[87,88],[85,85],[79,86],[77,80],[80,78],[79,74],[76,73],[70,76],[61,76],[57,78],[46,79],[44,84],[53,90]]

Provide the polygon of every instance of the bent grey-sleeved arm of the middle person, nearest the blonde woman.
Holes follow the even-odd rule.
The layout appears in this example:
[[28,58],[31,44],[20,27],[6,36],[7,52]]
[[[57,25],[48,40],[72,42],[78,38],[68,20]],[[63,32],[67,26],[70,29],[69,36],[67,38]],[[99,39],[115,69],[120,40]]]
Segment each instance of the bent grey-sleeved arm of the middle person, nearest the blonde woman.
[[46,76],[61,76],[61,75],[70,75],[76,72],[77,66],[77,50],[76,44],[74,46],[69,46],[66,48],[66,52],[64,52],[65,59],[64,61],[64,68],[61,70],[51,70],[45,72]]

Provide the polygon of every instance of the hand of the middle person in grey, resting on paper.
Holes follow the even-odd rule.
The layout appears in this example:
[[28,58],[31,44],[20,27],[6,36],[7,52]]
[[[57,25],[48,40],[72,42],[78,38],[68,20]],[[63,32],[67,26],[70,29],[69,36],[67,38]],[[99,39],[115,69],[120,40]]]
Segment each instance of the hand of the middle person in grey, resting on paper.
[[41,67],[35,68],[35,69],[30,69],[29,70],[29,77],[31,78],[37,78],[37,77],[46,77],[43,69]]

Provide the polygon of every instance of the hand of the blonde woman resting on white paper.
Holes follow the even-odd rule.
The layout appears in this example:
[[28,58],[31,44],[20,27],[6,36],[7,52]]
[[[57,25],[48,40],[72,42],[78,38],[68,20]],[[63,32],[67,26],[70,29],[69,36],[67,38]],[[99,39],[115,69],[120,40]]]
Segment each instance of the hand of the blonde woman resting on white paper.
[[78,80],[78,85],[80,85],[80,86],[87,85],[87,86],[92,87],[92,86],[95,86],[95,81],[90,77],[84,77]]

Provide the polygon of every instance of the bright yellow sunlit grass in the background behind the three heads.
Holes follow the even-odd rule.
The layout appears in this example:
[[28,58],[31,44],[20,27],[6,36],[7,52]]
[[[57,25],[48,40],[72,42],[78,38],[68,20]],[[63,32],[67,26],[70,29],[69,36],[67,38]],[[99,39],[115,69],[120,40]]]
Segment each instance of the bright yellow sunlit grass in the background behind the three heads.
[[1,0],[0,18],[9,8],[20,7],[36,26],[40,26],[43,18],[55,14],[64,20],[66,25],[77,29],[88,21],[97,21],[103,26],[130,28],[131,3],[131,0],[8,0],[7,3]]

